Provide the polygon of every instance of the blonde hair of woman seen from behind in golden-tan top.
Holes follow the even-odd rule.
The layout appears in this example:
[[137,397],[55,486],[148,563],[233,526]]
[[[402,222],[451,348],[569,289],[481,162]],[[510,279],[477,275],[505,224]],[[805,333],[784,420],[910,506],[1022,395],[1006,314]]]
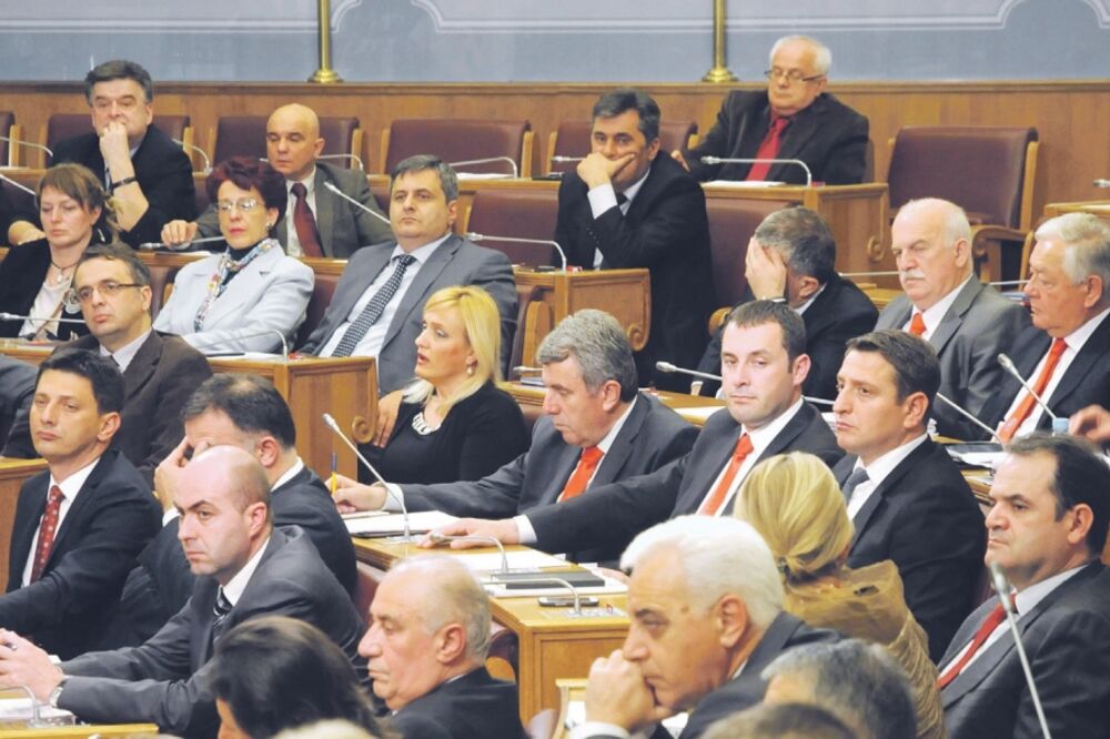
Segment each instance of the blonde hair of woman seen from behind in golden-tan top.
[[851,545],[840,486],[824,462],[804,452],[756,465],[735,514],[767,541],[787,586],[836,571]]

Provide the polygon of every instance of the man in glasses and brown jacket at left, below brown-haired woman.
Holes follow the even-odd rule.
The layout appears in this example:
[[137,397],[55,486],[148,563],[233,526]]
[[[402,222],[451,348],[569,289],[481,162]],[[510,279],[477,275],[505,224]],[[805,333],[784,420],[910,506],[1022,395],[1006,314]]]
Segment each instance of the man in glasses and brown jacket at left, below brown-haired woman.
[[[68,346],[110,357],[123,373],[114,448],[152,486],[154,468],[184,436],[182,406],[212,370],[179,336],[151,330],[150,271],[125,245],[94,244],[85,250],[73,273],[73,298],[81,304],[89,335]],[[26,415],[16,421],[3,453],[37,456]]]

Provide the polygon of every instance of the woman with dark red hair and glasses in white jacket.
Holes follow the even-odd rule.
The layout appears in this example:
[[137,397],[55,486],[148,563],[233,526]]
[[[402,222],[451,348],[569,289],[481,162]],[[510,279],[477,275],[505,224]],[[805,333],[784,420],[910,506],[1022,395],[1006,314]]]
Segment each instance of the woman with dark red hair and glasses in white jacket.
[[233,156],[216,165],[205,189],[228,251],[178,273],[154,328],[205,354],[281,352],[304,321],[314,281],[273,237],[285,214],[285,178],[265,162]]

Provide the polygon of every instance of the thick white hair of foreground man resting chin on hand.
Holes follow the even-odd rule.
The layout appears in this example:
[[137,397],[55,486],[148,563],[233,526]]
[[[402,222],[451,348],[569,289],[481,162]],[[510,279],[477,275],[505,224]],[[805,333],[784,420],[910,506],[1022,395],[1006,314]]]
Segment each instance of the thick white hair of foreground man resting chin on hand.
[[783,580],[770,548],[750,525],[731,517],[679,516],[640,533],[620,557],[635,570],[645,558],[673,550],[689,600],[708,611],[722,596],[744,599],[751,622],[766,629],[783,610]]

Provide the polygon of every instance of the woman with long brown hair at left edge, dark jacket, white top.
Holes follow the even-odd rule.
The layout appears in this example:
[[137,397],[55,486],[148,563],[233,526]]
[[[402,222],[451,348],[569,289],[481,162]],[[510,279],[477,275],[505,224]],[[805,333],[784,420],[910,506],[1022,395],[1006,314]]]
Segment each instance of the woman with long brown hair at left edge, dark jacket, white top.
[[112,207],[80,164],[47,170],[36,198],[46,237],[13,246],[0,262],[0,312],[31,317],[0,321],[0,336],[69,341],[89,333],[70,292],[73,271],[89,244],[114,237]]

